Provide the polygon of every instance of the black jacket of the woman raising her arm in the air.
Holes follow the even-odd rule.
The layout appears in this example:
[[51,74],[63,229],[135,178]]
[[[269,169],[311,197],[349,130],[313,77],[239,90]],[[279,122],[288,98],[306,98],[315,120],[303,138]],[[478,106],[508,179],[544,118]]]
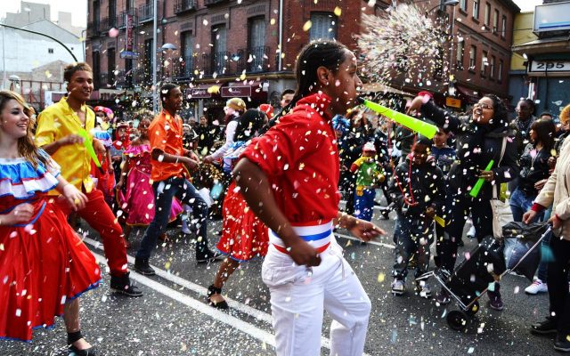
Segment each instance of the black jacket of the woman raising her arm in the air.
[[[510,182],[517,178],[517,143],[514,142],[515,132],[509,126],[498,127],[485,134],[482,150],[469,152],[468,142],[471,142],[476,130],[475,124],[470,119],[455,117],[444,109],[438,108],[432,101],[421,106],[421,113],[436,125],[448,128],[455,134],[458,160],[453,163],[448,174],[452,194],[468,194],[470,187],[473,187],[478,179],[479,171],[485,169],[491,159],[495,162],[492,171],[497,196],[500,193],[500,183]],[[507,146],[501,160],[501,147],[505,137],[507,137]],[[471,157],[473,164],[461,168],[460,159],[467,157],[467,155],[474,155]],[[501,165],[498,166],[500,161]],[[485,182],[479,192],[479,198],[493,198],[492,188],[492,184]]]

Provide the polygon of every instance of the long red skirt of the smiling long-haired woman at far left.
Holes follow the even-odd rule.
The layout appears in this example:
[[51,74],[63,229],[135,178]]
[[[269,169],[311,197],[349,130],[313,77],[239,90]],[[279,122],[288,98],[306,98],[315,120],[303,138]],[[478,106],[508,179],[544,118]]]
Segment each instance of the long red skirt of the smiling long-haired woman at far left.
[[30,341],[66,301],[99,286],[94,255],[49,199],[33,203],[37,220],[28,226],[0,226],[0,338]]

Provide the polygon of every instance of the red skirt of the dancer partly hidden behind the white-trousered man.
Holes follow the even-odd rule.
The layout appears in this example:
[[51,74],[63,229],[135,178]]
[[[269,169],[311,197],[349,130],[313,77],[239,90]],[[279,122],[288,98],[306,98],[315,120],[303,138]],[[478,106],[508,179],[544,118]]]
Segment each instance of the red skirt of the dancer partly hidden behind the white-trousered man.
[[216,246],[222,254],[240,262],[267,254],[267,227],[249,209],[234,182],[225,194],[223,216],[222,238]]

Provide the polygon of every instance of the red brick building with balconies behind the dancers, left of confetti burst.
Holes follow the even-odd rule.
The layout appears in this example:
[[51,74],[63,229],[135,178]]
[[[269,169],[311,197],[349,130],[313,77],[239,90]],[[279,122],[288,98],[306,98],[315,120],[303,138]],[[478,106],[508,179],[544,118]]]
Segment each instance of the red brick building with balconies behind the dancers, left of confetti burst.
[[[224,101],[232,96],[248,98],[251,107],[277,104],[284,89],[294,88],[294,63],[304,44],[313,38],[337,38],[355,49],[353,36],[360,30],[361,12],[378,12],[389,1],[373,7],[367,3],[159,0],[157,48],[170,48],[158,54],[159,80],[183,85],[189,102],[186,117],[205,112],[218,118]],[[133,94],[140,97],[138,104],[144,98],[148,102],[152,2],[89,0],[88,9],[86,61],[94,68],[94,98],[120,94],[124,99],[123,94]],[[309,20],[312,26],[305,31]],[[111,28],[117,28],[118,35]],[[131,40],[133,46],[126,46]],[[220,87],[219,93],[213,85]]]

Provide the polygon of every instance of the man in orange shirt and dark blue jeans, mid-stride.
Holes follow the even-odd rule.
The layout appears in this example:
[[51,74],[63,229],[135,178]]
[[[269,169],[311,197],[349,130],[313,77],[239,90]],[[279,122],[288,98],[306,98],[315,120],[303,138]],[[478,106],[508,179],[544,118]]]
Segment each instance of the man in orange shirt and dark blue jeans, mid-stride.
[[182,204],[192,207],[192,213],[199,220],[196,242],[196,261],[213,262],[220,258],[208,248],[208,205],[198,190],[184,178],[188,172],[198,168],[199,158],[191,150],[183,148],[183,121],[176,112],[182,107],[183,94],[178,85],[166,83],[160,88],[162,111],[149,126],[151,141],[151,181],[155,197],[155,214],[152,223],[144,232],[141,247],[136,253],[134,270],[145,275],[154,275],[149,258],[157,245],[159,235],[167,228],[170,207],[174,197]]

